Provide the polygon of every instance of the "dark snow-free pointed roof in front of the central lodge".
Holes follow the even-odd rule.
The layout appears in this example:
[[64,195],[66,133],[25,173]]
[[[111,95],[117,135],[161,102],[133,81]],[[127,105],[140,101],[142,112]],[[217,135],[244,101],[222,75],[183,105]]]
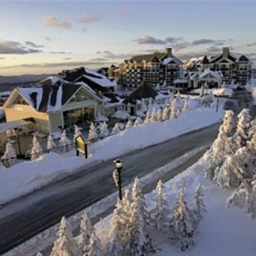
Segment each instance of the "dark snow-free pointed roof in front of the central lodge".
[[134,100],[155,99],[158,93],[146,82],[138,86],[124,101],[124,104],[133,103]]

